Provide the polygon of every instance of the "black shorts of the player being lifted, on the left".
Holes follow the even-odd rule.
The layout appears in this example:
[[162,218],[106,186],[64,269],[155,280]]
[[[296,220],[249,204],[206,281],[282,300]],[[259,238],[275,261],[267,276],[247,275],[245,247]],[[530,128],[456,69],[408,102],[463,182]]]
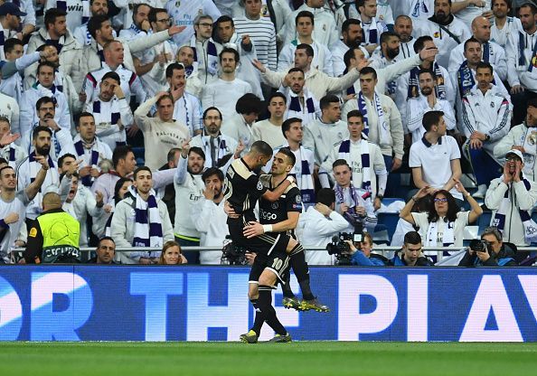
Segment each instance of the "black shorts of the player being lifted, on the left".
[[242,234],[245,223],[240,218],[239,220],[228,221],[228,227],[230,229],[231,241],[238,247],[244,247],[245,249],[255,252],[258,255],[270,256],[273,252],[286,253],[287,244],[291,239],[284,232],[269,232],[256,236],[254,238],[247,239]]

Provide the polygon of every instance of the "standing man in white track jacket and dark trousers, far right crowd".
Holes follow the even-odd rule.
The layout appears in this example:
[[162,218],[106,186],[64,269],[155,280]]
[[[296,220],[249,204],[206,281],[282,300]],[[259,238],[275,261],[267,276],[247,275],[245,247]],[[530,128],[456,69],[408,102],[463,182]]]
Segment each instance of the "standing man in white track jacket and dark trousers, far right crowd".
[[486,183],[501,171],[502,159],[494,156],[495,146],[507,135],[511,124],[509,99],[492,84],[493,67],[484,61],[476,66],[477,85],[463,98],[465,136],[463,153],[476,176],[476,198],[484,198]]

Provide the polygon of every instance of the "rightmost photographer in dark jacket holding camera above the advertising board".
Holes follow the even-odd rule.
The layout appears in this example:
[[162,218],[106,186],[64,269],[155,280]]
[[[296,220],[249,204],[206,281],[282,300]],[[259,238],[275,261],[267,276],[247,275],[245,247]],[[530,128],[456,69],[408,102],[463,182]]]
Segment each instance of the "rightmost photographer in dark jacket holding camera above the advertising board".
[[459,267],[516,267],[516,246],[502,241],[502,233],[495,227],[487,227],[481,241],[472,240]]

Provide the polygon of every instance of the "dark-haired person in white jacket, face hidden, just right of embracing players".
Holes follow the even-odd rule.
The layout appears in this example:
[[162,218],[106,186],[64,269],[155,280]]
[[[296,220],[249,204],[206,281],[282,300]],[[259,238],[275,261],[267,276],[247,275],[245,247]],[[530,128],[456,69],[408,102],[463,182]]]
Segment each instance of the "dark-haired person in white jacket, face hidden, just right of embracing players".
[[[304,248],[326,247],[332,237],[349,226],[342,215],[334,211],[335,193],[323,188],[317,193],[317,203],[300,215],[297,235]],[[334,256],[327,251],[306,250],[309,265],[334,265]]]

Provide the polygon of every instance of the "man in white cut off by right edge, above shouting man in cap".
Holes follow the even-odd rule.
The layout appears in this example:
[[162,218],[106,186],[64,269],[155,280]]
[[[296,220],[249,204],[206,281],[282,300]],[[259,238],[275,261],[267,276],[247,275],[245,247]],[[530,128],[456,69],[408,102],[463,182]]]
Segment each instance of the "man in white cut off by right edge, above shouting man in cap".
[[526,120],[512,127],[495,146],[495,158],[503,158],[511,149],[523,154],[523,174],[533,182],[537,178],[537,99],[530,99],[526,111]]

